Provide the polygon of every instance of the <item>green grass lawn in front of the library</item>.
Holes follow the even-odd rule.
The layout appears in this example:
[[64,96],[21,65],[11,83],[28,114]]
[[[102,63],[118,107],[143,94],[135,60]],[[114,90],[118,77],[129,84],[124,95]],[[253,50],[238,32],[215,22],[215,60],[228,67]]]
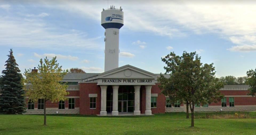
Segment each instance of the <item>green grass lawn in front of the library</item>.
[[[195,119],[191,128],[185,113],[154,116],[99,117],[94,115],[0,115],[0,134],[255,134],[256,112],[250,119]],[[205,115],[230,113],[197,113]],[[199,116],[200,115],[200,116]]]

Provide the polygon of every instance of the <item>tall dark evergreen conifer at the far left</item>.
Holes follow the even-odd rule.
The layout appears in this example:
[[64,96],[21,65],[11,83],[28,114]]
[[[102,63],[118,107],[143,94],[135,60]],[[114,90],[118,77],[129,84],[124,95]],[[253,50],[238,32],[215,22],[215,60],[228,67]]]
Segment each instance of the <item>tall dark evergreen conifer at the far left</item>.
[[25,97],[22,90],[22,75],[18,64],[13,56],[13,50],[10,49],[6,68],[2,71],[0,79],[0,113],[3,114],[22,114],[25,112]]

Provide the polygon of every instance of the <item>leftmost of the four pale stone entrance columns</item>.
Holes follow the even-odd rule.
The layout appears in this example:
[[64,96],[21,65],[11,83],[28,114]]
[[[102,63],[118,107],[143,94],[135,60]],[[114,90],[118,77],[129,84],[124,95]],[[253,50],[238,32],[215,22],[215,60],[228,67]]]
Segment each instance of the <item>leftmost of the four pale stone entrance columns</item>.
[[107,85],[101,85],[101,112],[100,116],[107,116]]

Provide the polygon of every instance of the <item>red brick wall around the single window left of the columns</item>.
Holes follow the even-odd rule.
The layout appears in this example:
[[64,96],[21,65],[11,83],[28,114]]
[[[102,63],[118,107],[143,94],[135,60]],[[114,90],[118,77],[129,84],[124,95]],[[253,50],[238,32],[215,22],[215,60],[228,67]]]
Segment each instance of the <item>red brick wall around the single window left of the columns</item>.
[[[100,114],[101,87],[97,83],[80,83],[80,114]],[[96,109],[90,109],[89,94],[97,94]]]

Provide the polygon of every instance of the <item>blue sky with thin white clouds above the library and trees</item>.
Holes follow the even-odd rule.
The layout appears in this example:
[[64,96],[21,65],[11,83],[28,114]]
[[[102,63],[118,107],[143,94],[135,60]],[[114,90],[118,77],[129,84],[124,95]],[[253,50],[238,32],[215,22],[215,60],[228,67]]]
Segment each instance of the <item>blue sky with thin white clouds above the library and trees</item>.
[[[245,76],[256,67],[256,3],[202,1],[113,1],[122,6],[119,67],[165,72],[161,57],[197,51],[214,63],[216,76]],[[1,1],[0,70],[9,49],[22,73],[40,58],[57,56],[63,68],[104,70],[104,1]]]

